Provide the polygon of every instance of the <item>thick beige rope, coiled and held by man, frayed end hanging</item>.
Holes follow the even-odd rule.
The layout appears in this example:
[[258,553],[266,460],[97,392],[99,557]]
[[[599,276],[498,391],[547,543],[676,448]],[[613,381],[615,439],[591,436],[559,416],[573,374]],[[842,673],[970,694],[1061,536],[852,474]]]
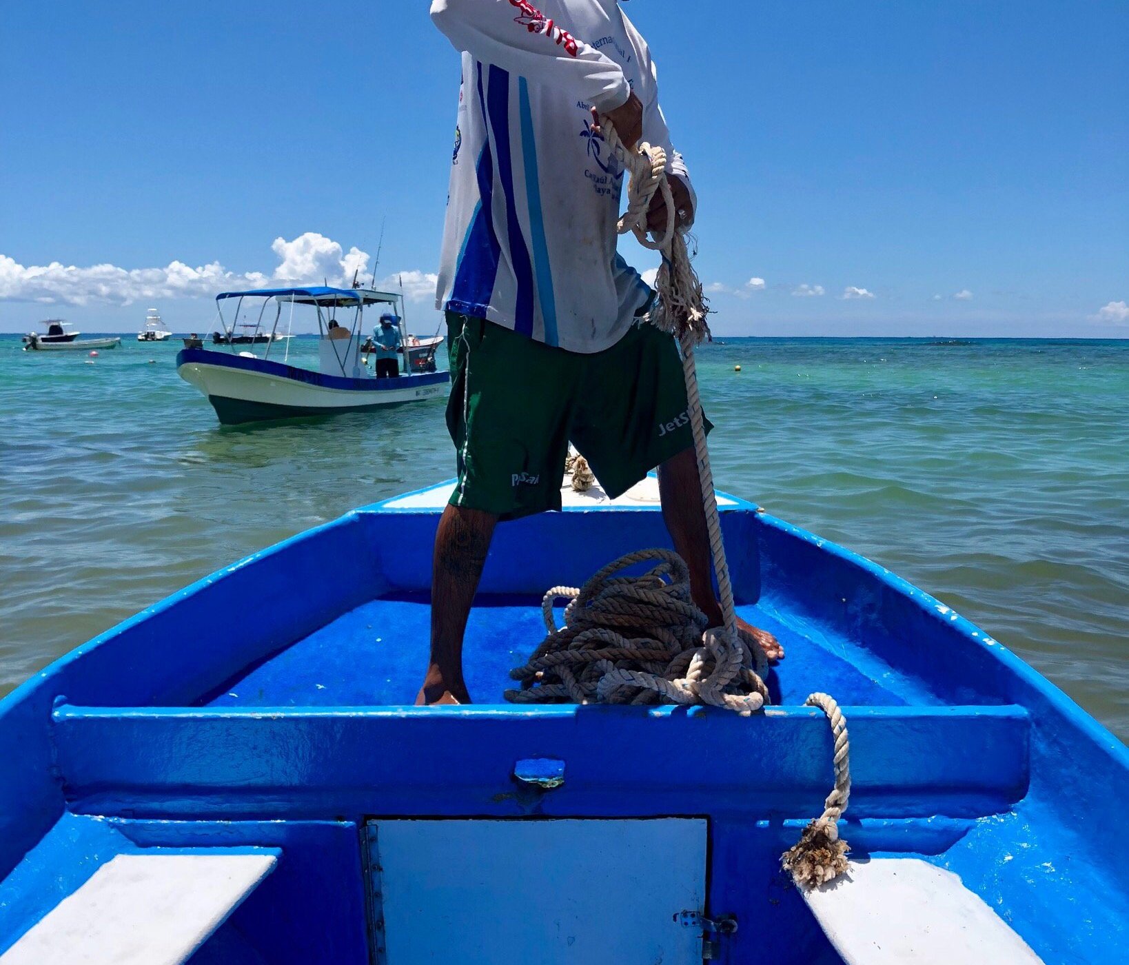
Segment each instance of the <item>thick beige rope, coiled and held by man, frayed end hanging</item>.
[[[628,210],[619,220],[619,233],[634,233],[641,245],[659,252],[663,258],[655,280],[657,304],[649,321],[674,334],[682,348],[690,426],[724,626],[706,626],[708,620],[690,597],[690,574],[681,556],[669,550],[629,553],[609,563],[579,589],[549,590],[542,602],[549,635],[530,661],[511,673],[522,687],[507,691],[506,699],[706,703],[752,714],[762,710],[768,699],[762,679],[768,661],[756,641],[737,626],[706,446],[694,348],[710,336],[709,308],[691,264],[685,233],[677,228],[666,177],[666,152],[648,143],[629,150],[606,117],[601,119],[601,132],[611,153],[622,157],[631,175]],[[666,225],[653,239],[647,214],[656,191],[666,202]],[[641,577],[615,576],[642,561],[656,565]],[[564,628],[558,630],[552,609],[560,598],[570,602],[564,609]],[[832,698],[815,693],[807,703],[820,707],[831,722],[835,786],[824,801],[823,814],[808,824],[782,860],[798,884],[815,886],[835,878],[847,867],[848,845],[839,837],[838,821],[850,797],[850,744],[847,721]]]

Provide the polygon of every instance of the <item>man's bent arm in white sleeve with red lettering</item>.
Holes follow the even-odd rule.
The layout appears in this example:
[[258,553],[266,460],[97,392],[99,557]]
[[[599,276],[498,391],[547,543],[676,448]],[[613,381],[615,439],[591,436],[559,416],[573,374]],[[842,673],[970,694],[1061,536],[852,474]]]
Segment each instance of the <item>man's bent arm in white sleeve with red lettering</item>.
[[456,50],[567,88],[602,113],[631,94],[615,61],[545,17],[532,0],[432,0],[431,19]]

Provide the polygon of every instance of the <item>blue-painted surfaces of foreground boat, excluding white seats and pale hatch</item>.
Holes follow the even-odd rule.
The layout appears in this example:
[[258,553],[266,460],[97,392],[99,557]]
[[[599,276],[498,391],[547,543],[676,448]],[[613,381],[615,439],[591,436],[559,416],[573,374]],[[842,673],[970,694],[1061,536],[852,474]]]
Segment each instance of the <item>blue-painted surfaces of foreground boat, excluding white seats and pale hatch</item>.
[[[850,723],[856,856],[949,868],[1048,963],[1115,960],[1120,742],[879,567],[749,503],[723,519],[738,612],[787,650],[752,719],[489,703],[542,638],[545,588],[667,545],[651,509],[499,527],[467,633],[475,707],[404,705],[431,510],[358,510],[84,644],[0,702],[0,953],[116,853],[221,845],[282,857],[193,962],[365,963],[368,818],[704,816],[706,910],[742,923],[725,960],[838,962],[779,870],[830,788],[826,722],[800,707],[824,690]],[[563,786],[515,781],[526,758],[562,761]]]

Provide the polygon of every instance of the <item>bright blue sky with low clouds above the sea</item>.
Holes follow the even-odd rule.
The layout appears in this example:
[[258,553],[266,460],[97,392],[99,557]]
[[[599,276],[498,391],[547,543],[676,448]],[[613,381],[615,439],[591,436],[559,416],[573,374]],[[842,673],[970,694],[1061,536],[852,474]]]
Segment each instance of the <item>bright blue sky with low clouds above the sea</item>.
[[[377,278],[437,324],[458,63],[427,8],[9,5],[0,331],[208,328],[233,275],[371,266],[384,219]],[[1129,5],[625,9],[716,332],[1129,335]]]

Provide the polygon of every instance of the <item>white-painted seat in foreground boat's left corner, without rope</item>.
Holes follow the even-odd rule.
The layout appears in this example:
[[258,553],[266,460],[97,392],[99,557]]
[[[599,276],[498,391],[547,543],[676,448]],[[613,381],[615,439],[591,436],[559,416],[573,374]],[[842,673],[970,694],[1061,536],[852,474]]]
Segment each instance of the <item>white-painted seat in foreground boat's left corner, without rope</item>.
[[0,955],[0,965],[177,965],[275,861],[263,851],[119,854]]

